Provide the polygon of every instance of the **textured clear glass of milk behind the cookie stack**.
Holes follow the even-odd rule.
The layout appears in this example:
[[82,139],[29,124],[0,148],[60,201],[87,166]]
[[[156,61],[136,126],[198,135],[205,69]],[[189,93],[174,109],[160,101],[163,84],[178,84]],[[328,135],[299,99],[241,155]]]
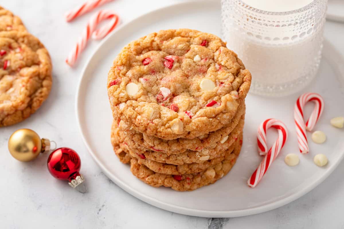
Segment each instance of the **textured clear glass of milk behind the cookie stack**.
[[222,35],[252,74],[251,92],[283,96],[314,79],[327,0],[221,0]]

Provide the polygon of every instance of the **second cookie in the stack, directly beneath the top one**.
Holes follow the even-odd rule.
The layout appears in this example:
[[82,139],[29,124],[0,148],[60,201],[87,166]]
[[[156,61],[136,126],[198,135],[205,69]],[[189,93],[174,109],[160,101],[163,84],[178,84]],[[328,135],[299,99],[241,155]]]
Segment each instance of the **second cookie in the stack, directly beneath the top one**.
[[[156,152],[166,152],[166,153],[183,153],[187,150],[192,151],[202,151],[206,148],[214,148],[217,142],[221,141],[222,139],[226,138],[233,129],[239,123],[241,117],[245,114],[245,103],[239,107],[237,114],[232,118],[232,120],[228,121],[229,124],[219,130],[211,132],[209,134],[204,134],[194,139],[187,139],[187,138],[178,138],[173,140],[163,140],[161,138],[148,136],[146,134],[141,134],[138,131],[135,131],[126,124],[125,122],[120,122],[120,128],[126,133],[134,132],[135,135],[132,135],[131,146],[133,148],[148,148],[152,151]],[[143,140],[142,140],[143,138]],[[129,141],[129,140],[124,140]]]

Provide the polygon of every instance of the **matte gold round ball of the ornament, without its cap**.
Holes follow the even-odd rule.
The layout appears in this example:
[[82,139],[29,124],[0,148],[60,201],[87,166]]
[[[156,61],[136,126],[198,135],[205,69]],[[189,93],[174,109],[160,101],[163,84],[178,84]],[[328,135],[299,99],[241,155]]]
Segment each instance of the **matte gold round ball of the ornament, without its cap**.
[[8,150],[19,161],[31,161],[41,152],[40,136],[31,129],[19,129],[8,140]]

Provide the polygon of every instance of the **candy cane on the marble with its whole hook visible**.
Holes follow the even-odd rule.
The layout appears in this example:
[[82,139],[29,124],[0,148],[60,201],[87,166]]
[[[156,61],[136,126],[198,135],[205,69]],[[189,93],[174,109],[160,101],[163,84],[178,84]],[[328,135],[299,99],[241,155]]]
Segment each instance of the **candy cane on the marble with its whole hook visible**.
[[[99,22],[101,22],[104,19],[111,19],[111,21],[109,22],[109,24],[106,24],[103,27],[96,30],[96,27],[99,24]],[[69,56],[66,59],[66,63],[70,66],[73,66],[75,64],[78,56],[86,47],[87,41],[89,40],[91,34],[93,39],[101,39],[108,35],[115,28],[117,23],[118,16],[111,11],[101,10],[95,15],[93,15],[83,32],[83,36],[79,38],[78,43],[73,48],[71,53],[69,53]]]

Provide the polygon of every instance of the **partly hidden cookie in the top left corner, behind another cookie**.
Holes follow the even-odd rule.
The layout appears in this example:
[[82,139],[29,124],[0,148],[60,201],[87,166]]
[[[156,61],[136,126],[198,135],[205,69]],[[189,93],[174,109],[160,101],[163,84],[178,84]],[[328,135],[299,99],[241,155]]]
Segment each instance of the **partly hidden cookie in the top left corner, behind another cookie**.
[[0,6],[0,32],[12,30],[26,31],[26,28],[19,17]]

